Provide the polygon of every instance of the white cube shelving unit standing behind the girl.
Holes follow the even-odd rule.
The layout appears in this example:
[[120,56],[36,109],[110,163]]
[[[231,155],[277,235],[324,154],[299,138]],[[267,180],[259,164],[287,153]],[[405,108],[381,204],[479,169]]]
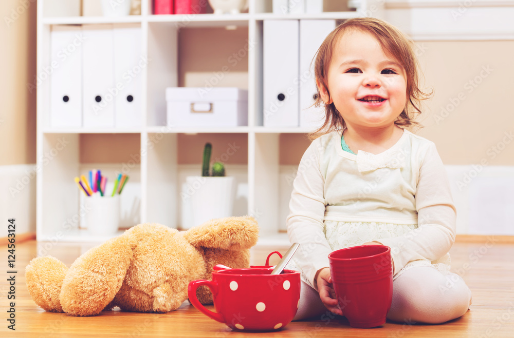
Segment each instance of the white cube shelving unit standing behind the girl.
[[[238,15],[153,15],[151,0],[141,1],[141,15],[111,17],[44,16],[45,3],[40,0],[37,23],[37,72],[42,74],[50,64],[50,31],[55,25],[126,24],[141,27],[141,55],[152,60],[142,68],[141,126],[131,129],[52,128],[50,126],[50,85],[43,81],[37,93],[37,204],[36,231],[39,241],[101,242],[106,238],[91,236],[78,229],[80,192],[73,180],[82,171],[80,163],[81,134],[131,133],[140,137],[139,221],[158,222],[180,228],[178,216],[180,186],[177,148],[181,133],[239,133],[248,137],[247,214],[258,217],[261,238],[270,244],[286,241],[279,233],[279,136],[281,133],[308,132],[305,128],[267,128],[263,126],[263,21],[267,19],[345,19],[362,16],[366,8],[381,6],[383,1],[360,2],[358,11],[323,12],[320,14],[277,15],[271,0],[250,0],[248,13]],[[325,3],[328,0],[325,0]],[[332,3],[339,2],[333,0]],[[343,3],[343,2],[341,2]],[[248,126],[234,128],[173,128],[166,126],[167,87],[178,85],[180,29],[236,26],[248,30],[248,41],[254,42],[248,56]],[[223,41],[223,36],[219,37]],[[158,142],[153,142],[158,140]],[[152,141],[152,142],[150,142]],[[151,144],[151,146],[150,146]],[[182,146],[182,145],[180,145]],[[121,165],[113,163],[111,167]],[[139,180],[139,181],[138,181]]]

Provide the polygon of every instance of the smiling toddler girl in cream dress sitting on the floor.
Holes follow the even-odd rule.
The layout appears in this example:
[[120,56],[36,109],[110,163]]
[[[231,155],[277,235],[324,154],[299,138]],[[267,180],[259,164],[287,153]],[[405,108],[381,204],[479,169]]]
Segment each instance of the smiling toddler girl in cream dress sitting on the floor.
[[393,263],[388,319],[443,323],[463,315],[471,291],[449,271],[455,207],[435,145],[403,127],[419,100],[412,43],[375,18],[348,19],[315,60],[324,125],[315,132],[293,183],[287,217],[302,272],[295,320],[329,311],[335,299],[328,254],[386,245]]

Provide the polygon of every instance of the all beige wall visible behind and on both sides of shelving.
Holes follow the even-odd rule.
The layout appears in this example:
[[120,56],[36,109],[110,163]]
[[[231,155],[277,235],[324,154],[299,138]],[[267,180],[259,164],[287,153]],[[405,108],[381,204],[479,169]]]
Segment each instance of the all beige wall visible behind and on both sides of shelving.
[[[16,0],[0,2],[3,17],[10,17],[17,6],[20,6],[20,2]],[[30,3],[14,23],[9,27],[3,23],[0,29],[1,41],[8,46],[0,53],[3,79],[0,85],[3,98],[0,110],[0,165],[35,163],[35,92],[30,93],[27,89],[27,84],[33,82],[35,75],[35,11],[35,3]],[[243,55],[236,64],[227,62],[230,55],[245,49],[247,32],[246,28],[235,31],[225,31],[224,28],[183,30],[179,36],[180,84],[204,86],[206,79],[211,79],[214,72],[228,65],[230,71],[217,85],[247,88],[247,55]],[[221,46],[212,44],[212,41],[219,42],[219,39],[211,38],[217,34],[227,34],[229,38],[224,39]],[[206,45],[206,41],[212,45]],[[418,133],[437,144],[445,164],[465,165],[487,161],[490,165],[514,165],[514,142],[507,144],[510,138],[505,134],[514,131],[514,108],[509,101],[514,87],[511,83],[514,78],[511,64],[514,41],[417,44],[425,85],[434,89],[434,95],[425,102],[424,113],[419,119],[425,127]],[[453,106],[455,108],[450,112]],[[247,139],[244,134],[180,136],[182,150],[179,152],[179,162],[200,163],[193,154],[198,152],[207,138],[214,143],[215,151],[222,151],[221,148],[230,142],[243,144],[242,150],[230,162],[246,163]],[[298,164],[308,145],[304,135],[284,134],[280,140],[282,164]],[[131,147],[120,146],[118,151],[105,153],[87,150],[98,149],[98,145],[105,142]],[[83,135],[81,162],[110,161],[110,154],[113,153],[118,156],[117,161],[128,161],[138,145],[139,135],[134,134]],[[182,145],[186,148],[182,148]],[[191,152],[185,151],[189,146],[192,147]]]

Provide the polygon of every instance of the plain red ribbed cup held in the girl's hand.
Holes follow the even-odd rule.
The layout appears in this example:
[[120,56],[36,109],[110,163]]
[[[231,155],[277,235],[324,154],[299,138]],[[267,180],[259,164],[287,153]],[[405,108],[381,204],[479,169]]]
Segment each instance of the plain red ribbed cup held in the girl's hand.
[[386,323],[393,299],[391,249],[361,245],[328,254],[332,285],[339,307],[358,328]]

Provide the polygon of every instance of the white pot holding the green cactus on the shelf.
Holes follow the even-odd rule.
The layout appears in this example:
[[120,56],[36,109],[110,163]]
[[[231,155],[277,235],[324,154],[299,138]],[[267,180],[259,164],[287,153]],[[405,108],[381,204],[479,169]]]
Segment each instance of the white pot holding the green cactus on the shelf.
[[213,218],[233,216],[235,200],[234,177],[186,177],[185,197],[189,201],[189,224],[182,224],[183,229],[201,225]]

